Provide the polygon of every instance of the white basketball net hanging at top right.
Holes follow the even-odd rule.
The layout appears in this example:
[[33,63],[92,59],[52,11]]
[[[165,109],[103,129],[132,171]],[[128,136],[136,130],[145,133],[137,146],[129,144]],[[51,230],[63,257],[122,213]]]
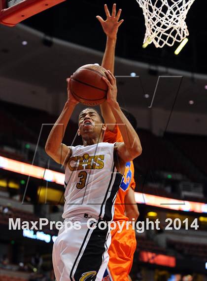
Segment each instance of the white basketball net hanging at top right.
[[185,19],[195,0],[137,0],[143,10],[146,33],[144,43],[158,48],[173,46],[189,35]]

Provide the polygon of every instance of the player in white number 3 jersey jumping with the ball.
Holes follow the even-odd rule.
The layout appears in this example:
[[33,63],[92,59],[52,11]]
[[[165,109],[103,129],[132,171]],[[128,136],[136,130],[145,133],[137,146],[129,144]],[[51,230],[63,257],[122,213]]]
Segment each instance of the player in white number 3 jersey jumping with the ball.
[[[104,124],[99,113],[86,108],[79,115],[78,134],[82,146],[62,143],[71,114],[78,103],[68,87],[68,100],[54,124],[46,145],[46,153],[64,164],[65,206],[64,227],[53,246],[53,267],[56,281],[101,281],[108,263],[110,229],[100,222],[113,219],[113,203],[125,171],[125,164],[141,154],[136,131],[122,113],[117,102],[116,79],[106,71],[107,102],[113,112],[124,142],[103,143]],[[64,133],[63,133],[64,132]],[[89,223],[90,219],[90,223]],[[67,228],[77,221],[80,228]]]

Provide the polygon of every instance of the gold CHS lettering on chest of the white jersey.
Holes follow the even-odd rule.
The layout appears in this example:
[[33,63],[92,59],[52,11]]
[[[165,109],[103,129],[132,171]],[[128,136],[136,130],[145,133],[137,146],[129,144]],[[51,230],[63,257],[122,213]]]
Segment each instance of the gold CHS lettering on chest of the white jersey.
[[86,169],[103,169],[104,155],[89,156],[85,153],[83,156],[73,156],[69,158],[68,166],[70,171],[86,170]]

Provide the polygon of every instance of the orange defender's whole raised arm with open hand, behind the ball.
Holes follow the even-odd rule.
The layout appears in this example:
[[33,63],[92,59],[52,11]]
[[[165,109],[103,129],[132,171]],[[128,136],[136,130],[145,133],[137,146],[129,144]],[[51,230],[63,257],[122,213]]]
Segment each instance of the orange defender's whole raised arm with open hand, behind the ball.
[[[104,33],[107,37],[106,39],[106,46],[104,51],[104,57],[102,60],[102,66],[106,70],[110,70],[111,73],[114,73],[114,57],[115,57],[115,46],[116,46],[116,37],[119,26],[122,24],[124,20],[120,20],[121,9],[118,10],[116,14],[116,4],[113,4],[112,13],[108,10],[107,5],[104,5],[104,10],[106,14],[106,20],[100,16],[97,16],[97,19],[100,21]],[[102,116],[104,117],[104,121],[110,131],[113,131],[116,120],[113,116],[110,107],[108,106],[107,102],[101,104],[101,112]]]

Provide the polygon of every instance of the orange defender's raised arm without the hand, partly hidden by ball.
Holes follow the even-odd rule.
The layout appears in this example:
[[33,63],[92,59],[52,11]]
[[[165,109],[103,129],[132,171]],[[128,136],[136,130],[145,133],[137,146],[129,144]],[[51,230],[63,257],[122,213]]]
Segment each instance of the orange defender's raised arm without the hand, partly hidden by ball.
[[[115,46],[116,46],[116,39],[111,39],[107,37],[106,46],[105,46],[105,52],[104,57],[102,60],[102,66],[106,70],[110,70],[110,72],[114,73],[114,57],[115,57]],[[102,116],[104,117],[104,121],[110,131],[113,131],[116,120],[113,116],[113,113],[108,106],[108,103],[105,101],[103,104],[101,104],[101,112]]]

